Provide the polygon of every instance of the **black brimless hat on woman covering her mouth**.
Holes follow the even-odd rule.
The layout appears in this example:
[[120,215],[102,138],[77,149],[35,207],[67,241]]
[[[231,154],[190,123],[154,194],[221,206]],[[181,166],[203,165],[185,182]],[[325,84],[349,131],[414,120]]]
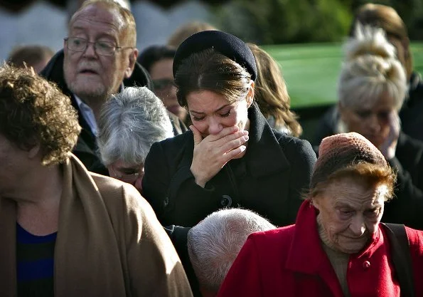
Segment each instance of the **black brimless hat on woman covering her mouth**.
[[198,53],[208,48],[214,48],[223,56],[227,56],[227,58],[245,67],[251,74],[252,80],[257,78],[255,58],[247,44],[237,36],[215,30],[195,33],[181,43],[176,51],[175,58],[173,58],[173,76],[183,59],[188,58],[192,53]]

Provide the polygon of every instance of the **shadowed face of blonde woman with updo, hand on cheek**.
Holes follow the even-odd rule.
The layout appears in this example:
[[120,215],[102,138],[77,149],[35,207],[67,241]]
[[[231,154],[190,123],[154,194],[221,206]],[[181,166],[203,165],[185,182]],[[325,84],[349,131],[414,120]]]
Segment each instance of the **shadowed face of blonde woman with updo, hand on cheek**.
[[398,111],[394,99],[382,93],[373,106],[339,108],[341,119],[349,132],[358,132],[366,137],[375,147],[380,147],[390,132],[390,121]]

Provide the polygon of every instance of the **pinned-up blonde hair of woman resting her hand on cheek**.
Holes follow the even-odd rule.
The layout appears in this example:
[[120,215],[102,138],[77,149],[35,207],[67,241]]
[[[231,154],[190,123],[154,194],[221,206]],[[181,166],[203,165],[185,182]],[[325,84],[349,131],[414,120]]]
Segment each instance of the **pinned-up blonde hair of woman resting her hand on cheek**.
[[338,80],[340,105],[346,108],[374,105],[382,93],[387,93],[400,110],[407,81],[385,31],[358,24],[354,37],[346,41],[344,51],[346,58]]

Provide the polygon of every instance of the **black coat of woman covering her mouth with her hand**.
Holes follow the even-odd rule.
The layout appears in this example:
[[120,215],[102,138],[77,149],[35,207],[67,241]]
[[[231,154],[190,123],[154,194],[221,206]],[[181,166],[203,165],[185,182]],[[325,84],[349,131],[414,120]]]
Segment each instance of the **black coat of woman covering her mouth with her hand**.
[[205,188],[190,170],[191,131],[151,147],[143,192],[161,224],[193,226],[223,207],[251,209],[278,226],[294,223],[316,154],[306,140],[272,130],[256,104],[248,118],[245,156],[228,162]]

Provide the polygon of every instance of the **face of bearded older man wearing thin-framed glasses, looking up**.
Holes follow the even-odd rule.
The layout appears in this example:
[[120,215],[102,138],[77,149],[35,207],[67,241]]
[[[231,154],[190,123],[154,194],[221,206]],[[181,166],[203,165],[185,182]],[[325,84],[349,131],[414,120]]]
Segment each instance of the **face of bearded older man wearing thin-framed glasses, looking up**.
[[90,43],[85,51],[71,51],[63,46],[65,81],[68,88],[78,97],[105,98],[116,93],[124,78],[134,69],[138,51],[134,48],[117,49],[112,56],[102,56],[95,51],[96,41],[124,44],[123,19],[117,11],[109,11],[99,5],[90,5],[80,11],[70,24],[69,37],[85,38]]

